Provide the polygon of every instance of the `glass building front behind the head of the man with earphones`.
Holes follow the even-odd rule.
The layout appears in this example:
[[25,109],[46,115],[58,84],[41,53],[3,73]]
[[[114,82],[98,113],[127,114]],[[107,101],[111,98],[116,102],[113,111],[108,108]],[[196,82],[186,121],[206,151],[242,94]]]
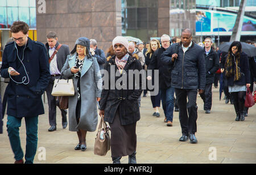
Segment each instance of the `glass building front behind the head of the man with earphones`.
[[0,1],[0,61],[6,42],[11,37],[10,27],[17,20],[30,26],[28,35],[32,40],[36,40],[36,0]]

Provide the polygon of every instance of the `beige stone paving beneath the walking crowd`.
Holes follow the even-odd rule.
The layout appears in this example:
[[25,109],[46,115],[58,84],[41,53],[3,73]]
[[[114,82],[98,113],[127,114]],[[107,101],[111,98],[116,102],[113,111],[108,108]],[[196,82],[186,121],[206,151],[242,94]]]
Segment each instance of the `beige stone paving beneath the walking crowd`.
[[[224,93],[222,93],[222,99]],[[249,116],[243,122],[235,121],[234,107],[218,100],[218,88],[213,88],[213,107],[210,114],[203,110],[203,100],[197,97],[197,144],[179,142],[181,129],[179,113],[174,112],[174,126],[167,127],[163,122],[164,114],[152,116],[150,96],[142,97],[141,120],[137,123],[137,163],[172,164],[172,163],[256,163],[256,107],[249,109]],[[106,156],[93,154],[96,131],[86,136],[87,150],[75,151],[78,143],[76,132],[62,129],[60,111],[57,110],[57,131],[48,132],[48,107],[46,114],[39,117],[38,151],[34,163],[112,163],[110,151]],[[162,107],[161,107],[162,108]],[[3,119],[4,133],[0,134],[0,164],[14,163],[6,131],[6,116]],[[23,151],[26,149],[26,128],[22,120],[20,138]],[[46,159],[40,160],[43,150]],[[215,154],[214,154],[215,153]],[[209,159],[210,158],[210,159]],[[122,157],[122,163],[128,162],[128,156]]]

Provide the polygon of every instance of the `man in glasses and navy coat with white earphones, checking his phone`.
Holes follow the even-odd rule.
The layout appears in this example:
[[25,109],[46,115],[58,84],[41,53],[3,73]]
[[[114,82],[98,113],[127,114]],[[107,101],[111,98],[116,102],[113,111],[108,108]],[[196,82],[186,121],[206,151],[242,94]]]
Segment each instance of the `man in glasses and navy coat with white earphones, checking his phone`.
[[28,37],[28,25],[14,22],[11,35],[15,42],[5,46],[1,75],[10,78],[7,94],[7,132],[15,163],[23,163],[19,127],[26,122],[25,163],[33,163],[38,144],[38,116],[44,114],[42,94],[49,83],[49,63],[44,44]]

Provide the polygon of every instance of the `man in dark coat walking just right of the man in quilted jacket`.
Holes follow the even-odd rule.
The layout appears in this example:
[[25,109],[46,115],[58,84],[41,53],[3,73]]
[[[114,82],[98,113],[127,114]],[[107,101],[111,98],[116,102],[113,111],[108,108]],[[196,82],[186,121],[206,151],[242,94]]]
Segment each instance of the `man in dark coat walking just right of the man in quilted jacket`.
[[212,39],[207,37],[204,39],[204,56],[205,56],[205,73],[206,84],[204,93],[200,96],[204,101],[205,113],[209,114],[212,108],[212,84],[214,82],[214,74],[220,67],[220,59],[217,52],[212,48]]

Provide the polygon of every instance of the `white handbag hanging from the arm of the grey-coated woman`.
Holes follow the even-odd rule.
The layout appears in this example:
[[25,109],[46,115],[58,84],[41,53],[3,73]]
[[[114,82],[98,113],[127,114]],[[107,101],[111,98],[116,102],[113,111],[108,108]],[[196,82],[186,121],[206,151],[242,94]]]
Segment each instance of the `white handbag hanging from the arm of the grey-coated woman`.
[[52,96],[74,96],[75,89],[73,79],[55,79],[52,88]]

